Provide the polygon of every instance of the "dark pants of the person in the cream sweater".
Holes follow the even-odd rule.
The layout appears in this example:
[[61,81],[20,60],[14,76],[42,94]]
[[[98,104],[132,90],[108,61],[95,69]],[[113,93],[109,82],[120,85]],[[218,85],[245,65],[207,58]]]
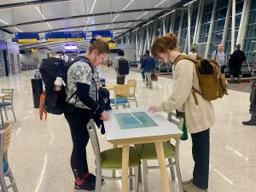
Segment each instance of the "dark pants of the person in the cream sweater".
[[210,159],[210,129],[191,134],[192,154],[195,161],[193,183],[200,189],[208,189]]

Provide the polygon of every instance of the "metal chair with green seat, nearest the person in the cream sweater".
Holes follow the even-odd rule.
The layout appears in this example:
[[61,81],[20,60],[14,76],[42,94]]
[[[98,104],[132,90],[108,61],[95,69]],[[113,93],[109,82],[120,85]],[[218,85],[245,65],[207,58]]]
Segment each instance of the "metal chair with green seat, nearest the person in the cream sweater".
[[[183,128],[184,119],[172,119],[172,115],[175,113],[168,113],[168,120],[173,124],[177,125],[180,130]],[[175,173],[173,166],[176,166],[177,182],[180,192],[183,192],[182,178],[179,168],[179,143],[180,138],[175,139],[175,145],[171,141],[163,142],[164,154],[168,159],[166,167],[170,168],[172,180],[175,180]],[[143,180],[144,180],[144,191],[148,192],[148,170],[159,169],[159,166],[148,166],[148,160],[157,160],[157,154],[154,147],[154,143],[136,144],[135,148],[139,154],[141,160],[143,160]],[[174,160],[174,161],[173,161]]]

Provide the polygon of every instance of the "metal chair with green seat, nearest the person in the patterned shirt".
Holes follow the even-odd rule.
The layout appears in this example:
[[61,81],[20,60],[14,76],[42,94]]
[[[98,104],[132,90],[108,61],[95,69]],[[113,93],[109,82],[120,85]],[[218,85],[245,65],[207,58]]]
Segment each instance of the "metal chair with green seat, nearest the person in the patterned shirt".
[[[110,148],[105,151],[100,151],[100,145],[96,133],[96,127],[93,119],[87,125],[87,130],[90,135],[90,142],[92,144],[93,152],[96,156],[96,192],[101,192],[102,178],[107,180],[120,180],[122,177],[105,177],[102,176],[102,170],[115,171],[122,169],[122,148]],[[130,189],[132,187],[132,179],[135,179],[135,188],[138,186],[139,166],[141,160],[138,157],[137,150],[134,147],[130,147],[129,150],[129,170],[130,175]],[[134,169],[134,174],[132,172]]]

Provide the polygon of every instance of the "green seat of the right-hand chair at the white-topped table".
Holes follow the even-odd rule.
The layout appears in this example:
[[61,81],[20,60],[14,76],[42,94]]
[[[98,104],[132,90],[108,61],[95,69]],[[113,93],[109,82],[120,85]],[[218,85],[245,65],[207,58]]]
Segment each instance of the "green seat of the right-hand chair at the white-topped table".
[[[144,145],[144,146],[143,146]],[[172,157],[175,154],[175,146],[169,142],[163,142],[165,158]],[[157,160],[154,143],[136,144],[135,148],[141,160]],[[143,150],[143,152],[142,152]]]

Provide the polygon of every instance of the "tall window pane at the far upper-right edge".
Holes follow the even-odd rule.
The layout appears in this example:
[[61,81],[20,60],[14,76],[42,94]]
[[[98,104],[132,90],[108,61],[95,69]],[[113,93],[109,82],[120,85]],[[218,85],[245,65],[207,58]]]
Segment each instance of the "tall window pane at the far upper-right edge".
[[256,52],[256,1],[252,1],[250,8],[246,38],[243,46],[247,61],[253,61],[253,55],[255,55]]

